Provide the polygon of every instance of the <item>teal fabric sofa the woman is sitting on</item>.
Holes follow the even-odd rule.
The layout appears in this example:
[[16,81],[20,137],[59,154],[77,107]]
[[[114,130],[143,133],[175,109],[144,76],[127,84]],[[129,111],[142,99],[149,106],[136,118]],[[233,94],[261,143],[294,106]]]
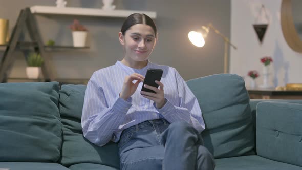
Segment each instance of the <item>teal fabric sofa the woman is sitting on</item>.
[[[187,84],[203,113],[215,169],[302,170],[302,100],[250,100],[235,74]],[[119,169],[116,143],[98,147],[82,135],[85,88],[0,83],[0,169]]]

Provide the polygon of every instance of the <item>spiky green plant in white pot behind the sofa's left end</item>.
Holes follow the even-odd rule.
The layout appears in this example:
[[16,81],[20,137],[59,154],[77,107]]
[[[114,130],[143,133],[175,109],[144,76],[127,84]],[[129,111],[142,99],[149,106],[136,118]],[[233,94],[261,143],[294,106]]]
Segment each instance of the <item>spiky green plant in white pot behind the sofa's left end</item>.
[[44,59],[39,53],[31,52],[27,57],[26,74],[28,78],[36,79],[39,77],[41,72],[41,65],[44,62]]

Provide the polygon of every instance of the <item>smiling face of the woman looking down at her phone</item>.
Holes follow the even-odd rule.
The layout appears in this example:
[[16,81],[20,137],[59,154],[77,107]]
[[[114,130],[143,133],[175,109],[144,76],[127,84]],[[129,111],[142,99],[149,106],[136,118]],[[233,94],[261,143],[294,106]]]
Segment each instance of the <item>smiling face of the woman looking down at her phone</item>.
[[125,32],[119,33],[119,40],[124,47],[125,58],[133,61],[144,61],[152,53],[156,36],[152,27],[136,24]]

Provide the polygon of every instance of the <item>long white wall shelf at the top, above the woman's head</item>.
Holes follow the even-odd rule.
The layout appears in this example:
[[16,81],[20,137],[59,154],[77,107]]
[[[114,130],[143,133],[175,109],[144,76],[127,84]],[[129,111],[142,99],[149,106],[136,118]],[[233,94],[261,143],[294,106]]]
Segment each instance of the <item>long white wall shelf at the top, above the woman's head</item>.
[[156,18],[156,12],[153,11],[133,11],[133,10],[102,10],[97,8],[75,8],[53,6],[32,6],[31,13],[38,14],[60,14],[60,15],[83,15],[83,16],[102,16],[102,17],[121,17],[125,18],[133,13],[144,13],[150,18]]

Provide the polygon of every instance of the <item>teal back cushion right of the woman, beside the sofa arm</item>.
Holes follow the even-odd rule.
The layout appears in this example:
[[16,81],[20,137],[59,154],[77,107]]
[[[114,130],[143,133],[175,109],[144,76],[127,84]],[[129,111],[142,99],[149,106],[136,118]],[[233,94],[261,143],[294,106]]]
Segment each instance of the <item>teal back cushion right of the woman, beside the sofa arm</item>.
[[216,74],[187,81],[198,99],[205,146],[215,158],[254,154],[249,96],[242,77]]

